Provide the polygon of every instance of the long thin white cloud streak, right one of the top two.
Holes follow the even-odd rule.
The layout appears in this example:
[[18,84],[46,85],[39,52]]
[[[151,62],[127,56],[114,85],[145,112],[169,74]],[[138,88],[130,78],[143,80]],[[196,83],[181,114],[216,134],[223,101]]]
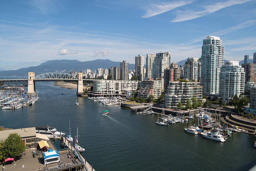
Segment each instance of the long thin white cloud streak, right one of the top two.
[[171,22],[182,22],[186,20],[192,20],[194,18],[199,18],[202,16],[206,16],[208,14],[214,13],[218,10],[221,10],[222,8],[226,8],[228,6],[237,5],[237,4],[243,4],[248,1],[250,0],[228,0],[226,2],[218,2],[212,5],[202,6],[204,10],[201,10],[201,11],[192,11],[192,10],[178,11],[176,13],[177,14],[176,18],[171,20]]

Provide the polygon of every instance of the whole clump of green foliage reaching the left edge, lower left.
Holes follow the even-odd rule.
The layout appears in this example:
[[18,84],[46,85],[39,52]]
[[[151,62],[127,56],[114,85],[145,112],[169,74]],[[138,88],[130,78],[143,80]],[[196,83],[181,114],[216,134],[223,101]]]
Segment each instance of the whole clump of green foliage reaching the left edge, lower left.
[[8,157],[19,157],[26,150],[26,145],[18,133],[10,133],[5,139],[0,141],[0,161]]

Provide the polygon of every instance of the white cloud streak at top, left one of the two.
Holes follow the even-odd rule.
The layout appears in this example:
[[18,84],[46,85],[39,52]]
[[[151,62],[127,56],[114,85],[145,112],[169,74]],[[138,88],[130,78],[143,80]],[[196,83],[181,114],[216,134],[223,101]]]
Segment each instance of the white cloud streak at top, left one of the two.
[[146,14],[142,16],[142,18],[149,18],[158,14],[162,14],[164,12],[173,10],[180,6],[191,4],[194,1],[195,0],[187,0],[187,1],[176,1],[176,2],[163,2],[160,4],[150,4],[149,6],[146,6],[143,8],[146,11]]

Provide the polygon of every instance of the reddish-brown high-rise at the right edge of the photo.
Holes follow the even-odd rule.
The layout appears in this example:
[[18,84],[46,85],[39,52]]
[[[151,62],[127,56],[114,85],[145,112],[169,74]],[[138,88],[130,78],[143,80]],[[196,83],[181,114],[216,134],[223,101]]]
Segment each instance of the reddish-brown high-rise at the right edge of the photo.
[[245,72],[245,82],[254,82],[256,84],[256,64],[242,64]]

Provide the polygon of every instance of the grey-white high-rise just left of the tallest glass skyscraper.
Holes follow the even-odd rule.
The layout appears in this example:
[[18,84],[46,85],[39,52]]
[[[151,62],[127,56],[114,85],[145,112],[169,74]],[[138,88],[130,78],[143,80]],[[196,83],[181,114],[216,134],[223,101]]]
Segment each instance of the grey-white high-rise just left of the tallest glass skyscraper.
[[198,78],[198,58],[188,58],[184,65],[184,80],[195,80]]

